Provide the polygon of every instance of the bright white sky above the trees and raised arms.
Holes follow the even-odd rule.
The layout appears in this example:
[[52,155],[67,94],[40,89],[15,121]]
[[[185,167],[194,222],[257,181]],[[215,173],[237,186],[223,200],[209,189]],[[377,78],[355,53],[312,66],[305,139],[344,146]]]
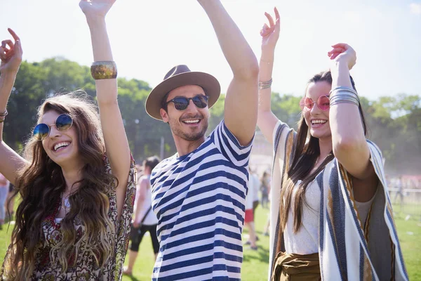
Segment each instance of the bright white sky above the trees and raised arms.
[[[209,0],[210,1],[210,0]],[[88,26],[77,0],[1,0],[0,39],[7,27],[22,40],[24,59],[62,56],[91,65]],[[362,96],[421,94],[421,0],[222,0],[260,58],[265,11],[277,6],[281,37],[274,84],[280,93],[301,95],[307,79],[329,67],[330,46],[353,46],[352,70]],[[210,21],[194,0],[117,0],[107,15],[119,77],[156,86],[174,65],[213,74],[225,93],[232,72]]]

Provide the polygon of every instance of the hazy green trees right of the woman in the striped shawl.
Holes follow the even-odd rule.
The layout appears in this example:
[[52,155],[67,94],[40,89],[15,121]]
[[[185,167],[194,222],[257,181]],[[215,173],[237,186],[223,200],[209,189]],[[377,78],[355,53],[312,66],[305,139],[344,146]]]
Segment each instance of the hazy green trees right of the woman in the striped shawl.
[[420,174],[420,96],[400,93],[362,103],[370,138],[382,150],[388,174]]

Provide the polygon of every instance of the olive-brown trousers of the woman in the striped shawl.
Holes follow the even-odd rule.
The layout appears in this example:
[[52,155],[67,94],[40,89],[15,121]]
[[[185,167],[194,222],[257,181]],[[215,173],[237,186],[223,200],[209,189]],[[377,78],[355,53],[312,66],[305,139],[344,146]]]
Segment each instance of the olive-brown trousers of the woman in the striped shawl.
[[319,281],[320,264],[319,253],[314,254],[277,254],[272,281]]

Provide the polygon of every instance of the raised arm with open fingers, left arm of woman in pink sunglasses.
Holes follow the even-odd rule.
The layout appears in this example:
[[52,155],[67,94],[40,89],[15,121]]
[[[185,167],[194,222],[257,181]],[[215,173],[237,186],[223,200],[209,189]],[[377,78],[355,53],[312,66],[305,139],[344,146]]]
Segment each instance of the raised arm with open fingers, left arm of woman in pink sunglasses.
[[279,39],[280,20],[279,12],[274,8],[276,22],[269,13],[265,13],[269,20],[269,26],[265,23],[260,35],[262,35],[262,55],[260,57],[259,68],[259,108],[258,108],[258,126],[263,136],[273,143],[272,135],[278,118],[271,109],[272,96],[272,70],[274,68],[274,56],[276,42]]

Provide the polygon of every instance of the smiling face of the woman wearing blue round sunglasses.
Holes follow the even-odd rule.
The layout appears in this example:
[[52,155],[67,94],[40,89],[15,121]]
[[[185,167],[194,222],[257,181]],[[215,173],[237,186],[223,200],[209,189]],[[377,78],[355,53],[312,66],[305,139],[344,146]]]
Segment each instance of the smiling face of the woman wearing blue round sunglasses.
[[76,126],[73,124],[67,131],[59,131],[55,126],[59,115],[55,110],[49,110],[39,119],[39,123],[50,126],[50,134],[42,141],[42,146],[48,157],[60,166],[80,162]]

